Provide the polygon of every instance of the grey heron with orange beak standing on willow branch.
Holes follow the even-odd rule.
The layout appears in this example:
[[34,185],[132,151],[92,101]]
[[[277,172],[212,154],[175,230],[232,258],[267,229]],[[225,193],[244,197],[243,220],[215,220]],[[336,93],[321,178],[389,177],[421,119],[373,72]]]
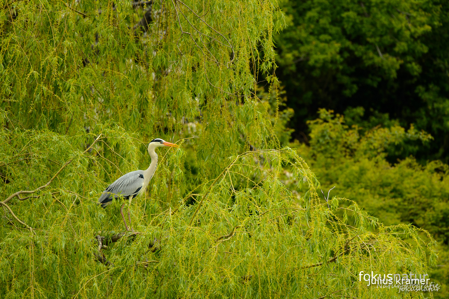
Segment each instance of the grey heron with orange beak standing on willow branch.
[[[102,192],[98,202],[101,204],[102,208],[110,205],[113,198],[124,197],[128,198],[129,204],[134,197],[145,192],[150,179],[153,177],[154,172],[156,172],[156,167],[158,166],[158,155],[154,152],[156,147],[179,147],[177,144],[169,143],[163,139],[156,138],[150,141],[148,144],[148,153],[151,157],[150,166],[146,170],[134,170],[122,175],[114,183],[110,184],[105,191]],[[128,228],[126,224],[125,217],[123,216],[123,203],[120,209],[120,214],[122,215],[123,222],[125,223],[125,228],[128,232],[134,232]],[[129,226],[131,227],[131,217],[128,211]]]

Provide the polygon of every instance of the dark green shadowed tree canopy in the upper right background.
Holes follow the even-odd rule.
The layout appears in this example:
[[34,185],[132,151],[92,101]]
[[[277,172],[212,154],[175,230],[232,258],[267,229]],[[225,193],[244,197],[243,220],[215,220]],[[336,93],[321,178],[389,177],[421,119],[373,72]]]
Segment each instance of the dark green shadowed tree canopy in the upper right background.
[[[414,124],[434,141],[404,150],[419,161],[449,160],[448,2],[282,1],[287,27],[275,38],[277,75],[291,128],[304,140],[318,108],[356,116],[369,128]],[[352,108],[360,107],[356,111]],[[304,134],[304,133],[303,133]],[[419,143],[418,143],[419,144]]]

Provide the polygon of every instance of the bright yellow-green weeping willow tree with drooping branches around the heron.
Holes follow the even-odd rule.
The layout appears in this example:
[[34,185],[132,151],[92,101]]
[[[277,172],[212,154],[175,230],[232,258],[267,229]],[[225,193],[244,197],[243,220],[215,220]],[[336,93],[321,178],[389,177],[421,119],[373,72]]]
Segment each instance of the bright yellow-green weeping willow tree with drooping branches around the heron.
[[[430,237],[320,201],[280,146],[276,96],[255,92],[276,86],[276,1],[0,7],[2,298],[399,298],[358,273],[426,272]],[[156,137],[182,147],[125,233],[97,198]]]

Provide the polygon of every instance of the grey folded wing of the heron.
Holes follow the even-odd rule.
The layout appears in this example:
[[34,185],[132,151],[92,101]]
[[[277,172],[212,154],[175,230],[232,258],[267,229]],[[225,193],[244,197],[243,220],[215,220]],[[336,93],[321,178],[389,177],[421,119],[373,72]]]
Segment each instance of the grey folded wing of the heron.
[[124,174],[114,183],[110,184],[105,191],[98,198],[98,202],[101,203],[101,207],[110,205],[112,199],[115,197],[123,196],[128,198],[129,196],[136,197],[137,193],[143,186],[143,170],[135,170]]

